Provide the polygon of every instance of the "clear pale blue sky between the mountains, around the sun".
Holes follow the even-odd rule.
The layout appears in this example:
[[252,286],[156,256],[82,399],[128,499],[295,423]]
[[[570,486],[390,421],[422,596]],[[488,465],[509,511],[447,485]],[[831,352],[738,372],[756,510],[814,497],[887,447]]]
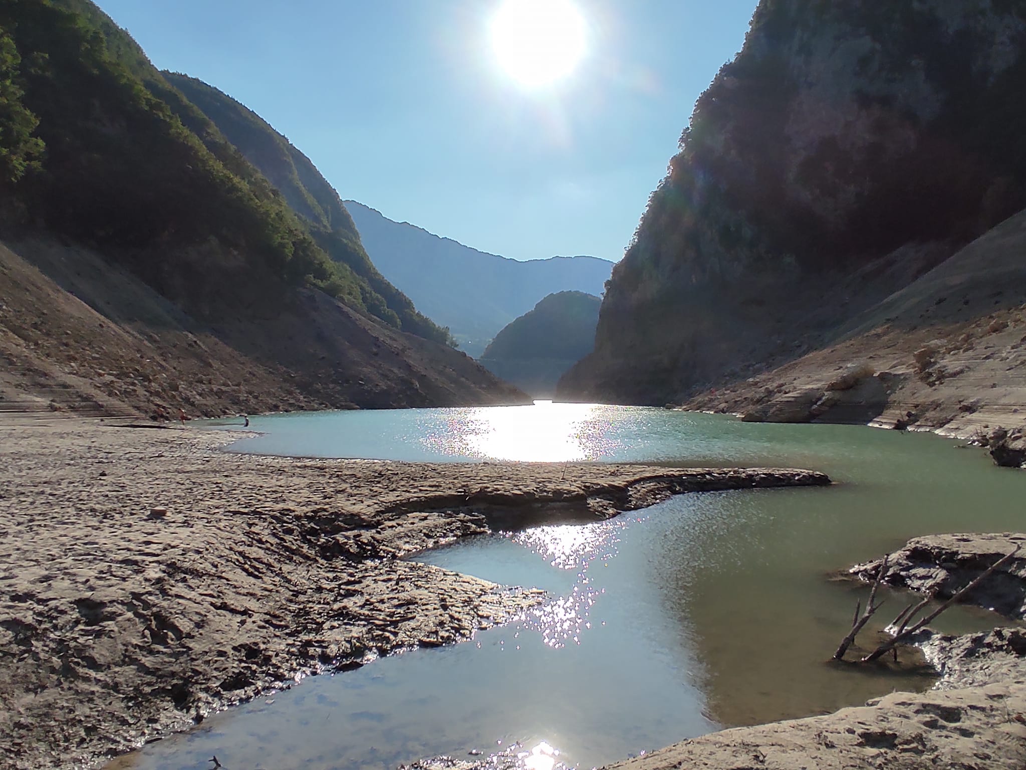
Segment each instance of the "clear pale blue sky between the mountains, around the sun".
[[496,62],[499,0],[98,0],[161,68],[215,85],[343,198],[514,259],[619,260],[756,0],[576,0],[549,89]]

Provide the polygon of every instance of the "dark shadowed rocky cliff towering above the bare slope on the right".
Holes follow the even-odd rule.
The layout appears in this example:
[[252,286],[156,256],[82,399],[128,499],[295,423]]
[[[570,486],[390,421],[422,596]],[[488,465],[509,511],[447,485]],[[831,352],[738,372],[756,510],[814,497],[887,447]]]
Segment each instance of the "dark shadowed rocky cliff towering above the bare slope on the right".
[[796,357],[1026,205],[1026,3],[763,0],[560,394],[663,403]]

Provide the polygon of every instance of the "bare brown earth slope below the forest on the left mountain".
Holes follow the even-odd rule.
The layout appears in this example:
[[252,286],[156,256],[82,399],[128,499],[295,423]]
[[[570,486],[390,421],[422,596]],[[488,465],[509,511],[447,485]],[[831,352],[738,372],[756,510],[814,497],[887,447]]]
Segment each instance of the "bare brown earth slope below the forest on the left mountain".
[[199,323],[85,248],[0,244],[0,410],[176,417],[523,402],[465,354],[313,290]]

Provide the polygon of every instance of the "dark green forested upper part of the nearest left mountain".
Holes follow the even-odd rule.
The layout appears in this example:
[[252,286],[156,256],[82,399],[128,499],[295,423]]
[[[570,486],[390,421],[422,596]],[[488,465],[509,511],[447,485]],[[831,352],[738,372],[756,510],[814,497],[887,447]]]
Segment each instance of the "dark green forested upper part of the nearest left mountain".
[[360,302],[356,276],[326,258],[266,180],[223,141],[208,149],[175,114],[181,105],[147,90],[86,16],[14,0],[0,6],[0,27],[13,51],[8,77],[44,148],[0,180],[8,225],[103,246],[203,312],[273,305],[303,283]]

